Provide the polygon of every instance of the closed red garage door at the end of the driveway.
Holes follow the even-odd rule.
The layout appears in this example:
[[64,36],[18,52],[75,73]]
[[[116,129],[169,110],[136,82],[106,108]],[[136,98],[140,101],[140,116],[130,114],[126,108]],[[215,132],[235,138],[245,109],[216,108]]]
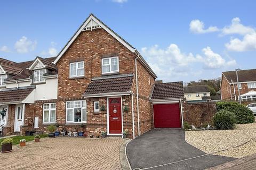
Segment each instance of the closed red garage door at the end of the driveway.
[[180,104],[154,105],[155,128],[181,128]]

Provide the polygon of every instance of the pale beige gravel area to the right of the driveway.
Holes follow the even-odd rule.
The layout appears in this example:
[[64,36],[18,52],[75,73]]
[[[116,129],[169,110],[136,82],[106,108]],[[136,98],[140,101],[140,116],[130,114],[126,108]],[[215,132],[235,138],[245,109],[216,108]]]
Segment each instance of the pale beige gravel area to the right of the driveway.
[[209,154],[225,149],[228,150],[216,154],[238,158],[256,153],[256,123],[237,124],[235,130],[186,131],[185,138],[190,145]]

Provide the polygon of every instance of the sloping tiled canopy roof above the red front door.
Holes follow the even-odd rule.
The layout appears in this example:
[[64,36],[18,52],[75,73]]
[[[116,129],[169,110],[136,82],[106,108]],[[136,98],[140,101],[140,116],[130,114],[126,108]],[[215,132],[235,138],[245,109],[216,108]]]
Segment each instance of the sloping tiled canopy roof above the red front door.
[[84,96],[107,94],[111,92],[130,92],[133,78],[133,74],[128,74],[126,76],[121,75],[119,77],[114,76],[102,79],[93,79],[85,90]]

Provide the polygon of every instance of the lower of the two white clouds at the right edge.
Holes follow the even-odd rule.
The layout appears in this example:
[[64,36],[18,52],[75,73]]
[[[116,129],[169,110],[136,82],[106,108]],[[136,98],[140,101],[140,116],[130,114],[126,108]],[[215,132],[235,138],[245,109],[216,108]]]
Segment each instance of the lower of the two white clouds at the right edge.
[[243,40],[231,38],[229,43],[225,44],[226,48],[234,52],[245,52],[248,50],[256,50],[256,33],[247,34]]

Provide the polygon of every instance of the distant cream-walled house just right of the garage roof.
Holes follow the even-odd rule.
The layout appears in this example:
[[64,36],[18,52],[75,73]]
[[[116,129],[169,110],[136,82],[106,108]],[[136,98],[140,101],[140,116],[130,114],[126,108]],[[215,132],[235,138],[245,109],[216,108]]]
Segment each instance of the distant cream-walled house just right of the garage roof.
[[209,101],[210,90],[207,85],[184,87],[184,95],[187,101]]

